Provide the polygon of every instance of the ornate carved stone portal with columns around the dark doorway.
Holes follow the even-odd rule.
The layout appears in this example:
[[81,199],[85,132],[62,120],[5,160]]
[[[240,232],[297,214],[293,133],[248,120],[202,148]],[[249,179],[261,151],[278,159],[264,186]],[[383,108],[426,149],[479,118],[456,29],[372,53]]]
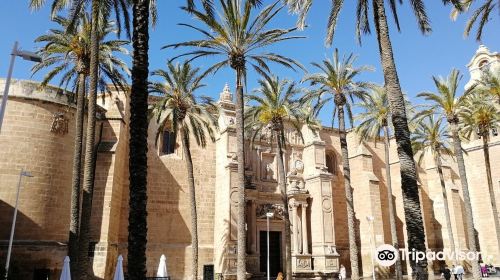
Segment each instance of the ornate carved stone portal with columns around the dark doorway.
[[[216,194],[214,228],[215,273],[224,279],[236,276],[237,241],[237,164],[236,134],[233,123],[234,104],[226,87],[221,94],[221,135],[217,140]],[[306,129],[306,128],[304,128]],[[312,137],[300,137],[286,128],[287,150],[284,155],[287,180],[288,210],[291,222],[292,269],[299,278],[331,277],[338,272],[338,257],[333,230],[333,176],[326,171],[324,143]],[[268,138],[257,139],[254,145],[246,147],[246,248],[247,271],[253,276],[264,276],[267,256],[265,238],[266,213],[274,213],[269,220],[269,231],[279,236],[270,239],[273,248],[274,265],[285,270],[284,221],[282,196],[279,189],[277,151]],[[304,160],[307,159],[307,160]],[[279,241],[276,241],[279,240]],[[278,243],[276,243],[278,242]],[[270,255],[271,256],[271,255]],[[276,267],[275,267],[276,268]],[[275,278],[276,275],[271,275]]]

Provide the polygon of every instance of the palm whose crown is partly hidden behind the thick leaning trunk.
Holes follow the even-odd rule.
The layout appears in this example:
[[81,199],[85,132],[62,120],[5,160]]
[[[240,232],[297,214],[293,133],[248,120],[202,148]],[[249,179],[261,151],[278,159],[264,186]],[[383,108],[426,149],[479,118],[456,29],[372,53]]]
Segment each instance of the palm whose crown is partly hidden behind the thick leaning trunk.
[[[385,177],[387,185],[387,201],[389,203],[389,224],[391,227],[392,246],[399,251],[398,235],[396,229],[396,214],[394,201],[392,199],[391,164],[389,160],[389,100],[387,92],[381,86],[372,87],[368,96],[358,105],[364,112],[359,113],[355,119],[359,120],[356,133],[360,136],[360,141],[380,140],[380,135],[384,134],[385,152]],[[401,270],[401,260],[398,258],[395,264],[396,279],[403,278]]]

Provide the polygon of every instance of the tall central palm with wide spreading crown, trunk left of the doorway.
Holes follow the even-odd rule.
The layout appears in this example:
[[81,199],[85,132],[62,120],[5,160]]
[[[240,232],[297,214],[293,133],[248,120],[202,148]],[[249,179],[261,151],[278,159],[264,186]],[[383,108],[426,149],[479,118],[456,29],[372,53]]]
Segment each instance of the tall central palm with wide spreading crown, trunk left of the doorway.
[[246,277],[243,84],[246,81],[247,66],[252,66],[259,73],[270,72],[268,65],[270,62],[281,64],[287,68],[302,68],[302,66],[288,57],[262,51],[263,48],[278,42],[299,38],[290,35],[296,28],[268,29],[269,22],[283,9],[283,6],[279,6],[279,2],[263,7],[257,15],[254,15],[254,11],[257,2],[260,1],[219,0],[218,2],[220,10],[217,14],[206,8],[199,10],[196,7],[184,7],[183,9],[191,13],[194,19],[201,24],[201,27],[192,24],[181,25],[199,32],[202,39],[167,45],[164,48],[192,48],[191,51],[180,55],[189,56],[190,59],[208,56],[221,57],[222,60],[211,66],[208,72],[216,73],[226,66],[230,66],[236,72],[236,156],[238,160],[239,205],[237,278],[243,280]]

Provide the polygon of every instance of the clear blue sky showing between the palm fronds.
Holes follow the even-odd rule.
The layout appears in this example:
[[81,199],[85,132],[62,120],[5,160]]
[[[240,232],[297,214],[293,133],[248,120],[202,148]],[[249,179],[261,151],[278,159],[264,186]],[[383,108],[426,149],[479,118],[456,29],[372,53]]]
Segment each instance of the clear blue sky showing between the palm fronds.
[[[47,0],[50,3],[50,0]],[[181,42],[188,39],[200,38],[187,28],[177,26],[178,23],[192,23],[189,15],[179,9],[185,0],[159,0],[159,22],[155,29],[151,30],[150,36],[150,70],[164,67],[165,61],[180,53],[178,50],[160,50],[166,44]],[[265,1],[271,2],[271,1]],[[306,39],[288,41],[278,44],[271,50],[287,55],[300,61],[309,71],[315,71],[310,66],[312,61],[320,61],[331,57],[334,48],[341,53],[353,52],[358,55],[358,65],[371,65],[375,71],[365,73],[361,79],[382,83],[383,74],[380,67],[378,46],[374,34],[363,37],[363,44],[357,44],[354,34],[355,1],[346,1],[345,9],[341,13],[337,27],[336,39],[333,47],[324,45],[324,34],[330,1],[317,0],[308,17],[309,27],[296,35],[306,36]],[[408,2],[408,1],[405,1]],[[474,37],[464,38],[463,28],[467,16],[461,16],[456,22],[449,18],[450,7],[443,7],[441,1],[426,1],[427,11],[432,21],[433,32],[430,35],[421,35],[415,18],[408,4],[399,7],[402,32],[397,33],[391,26],[391,39],[394,48],[396,66],[403,90],[416,103],[414,96],[421,91],[434,90],[431,80],[432,75],[446,76],[452,68],[458,68],[464,78],[462,85],[469,79],[466,64],[478,48],[480,43]],[[493,12],[493,18],[487,26],[483,35],[482,43],[492,51],[500,51],[500,36],[498,31],[500,24],[497,11]],[[25,50],[36,50],[33,40],[54,27],[49,20],[49,10],[44,8],[38,12],[28,10],[28,0],[3,0],[0,9],[0,77],[7,75],[9,54],[15,40]],[[392,19],[392,18],[391,18]],[[272,22],[273,27],[292,27],[296,17],[284,10]],[[129,58],[127,58],[130,61]],[[210,60],[199,60],[195,65],[205,69],[210,65]],[[14,78],[30,79],[31,63],[17,60],[14,69]],[[300,80],[303,73],[283,69],[279,65],[272,66],[273,73],[280,77]],[[43,74],[37,74],[31,79],[40,80]],[[255,87],[257,75],[249,73],[248,89]],[[234,86],[234,73],[230,70],[218,72],[215,76],[206,80],[207,86],[200,94],[218,97],[224,84],[228,82]],[[321,114],[324,123],[330,123],[330,112]]]

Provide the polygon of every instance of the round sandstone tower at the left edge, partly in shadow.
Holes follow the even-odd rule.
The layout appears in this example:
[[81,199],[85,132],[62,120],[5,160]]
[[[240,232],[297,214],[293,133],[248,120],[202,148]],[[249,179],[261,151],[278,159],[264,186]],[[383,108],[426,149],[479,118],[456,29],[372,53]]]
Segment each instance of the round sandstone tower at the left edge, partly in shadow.
[[[34,269],[59,270],[66,255],[75,134],[75,108],[68,96],[52,88],[41,90],[31,82],[11,84],[0,133],[0,262],[5,263],[19,174],[24,169],[34,177],[23,178],[19,196],[11,268],[27,272],[20,279],[30,279]],[[51,132],[55,113],[67,120],[66,133]]]

